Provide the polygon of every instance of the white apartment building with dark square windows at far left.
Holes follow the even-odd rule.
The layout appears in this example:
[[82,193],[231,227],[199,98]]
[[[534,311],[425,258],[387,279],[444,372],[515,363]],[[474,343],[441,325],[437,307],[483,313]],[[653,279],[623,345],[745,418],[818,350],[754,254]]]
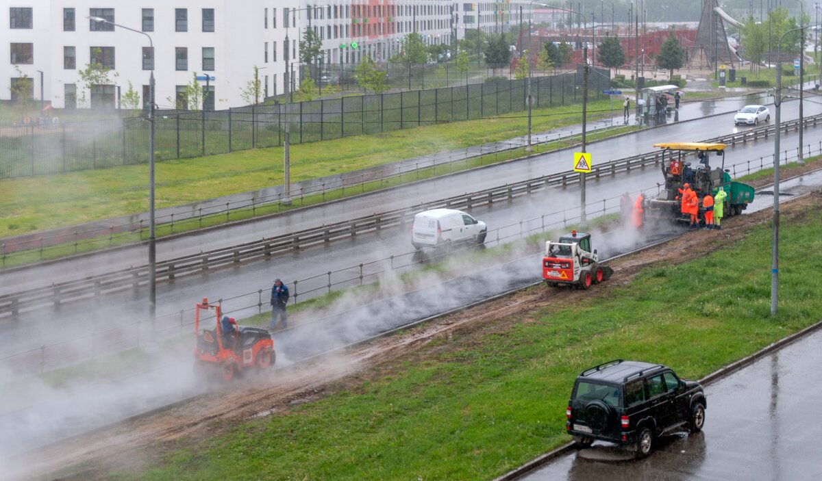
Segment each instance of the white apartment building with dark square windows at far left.
[[[285,43],[285,2],[263,0],[8,0],[0,7],[0,98],[19,77],[18,66],[33,82],[32,97],[55,108],[113,107],[118,88],[128,83],[147,101],[155,75],[155,103],[173,108],[179,93],[198,76],[209,76],[206,109],[246,104],[241,89],[259,67],[263,94],[284,92],[287,61],[298,43]],[[92,21],[102,17],[138,32]],[[289,20],[295,20],[292,15]],[[296,23],[294,24],[296,25]],[[298,29],[291,27],[292,39]],[[78,71],[95,61],[112,69],[110,84],[83,91]],[[116,76],[113,74],[116,72]],[[213,78],[214,80],[211,80]],[[205,88],[206,81],[201,85]],[[85,105],[78,99],[85,94]]]

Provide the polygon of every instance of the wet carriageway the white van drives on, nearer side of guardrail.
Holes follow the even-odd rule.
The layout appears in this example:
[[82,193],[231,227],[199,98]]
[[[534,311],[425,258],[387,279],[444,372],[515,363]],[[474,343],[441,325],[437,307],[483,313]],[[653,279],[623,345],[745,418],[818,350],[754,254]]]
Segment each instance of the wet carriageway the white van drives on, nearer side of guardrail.
[[[723,117],[718,118],[723,119]],[[713,118],[706,119],[704,122],[713,124],[714,120]],[[701,123],[703,122],[690,125],[700,126]],[[704,134],[697,138],[707,136],[709,135]],[[783,135],[783,145],[795,144],[796,137],[796,132]],[[630,139],[631,137],[621,139],[625,140],[626,138]],[[822,129],[806,130],[805,139],[807,143],[822,140]],[[643,151],[649,150],[645,148]],[[772,150],[773,144],[770,140],[738,144],[729,149],[727,163],[743,162],[760,158],[760,156],[768,156],[772,153]],[[512,163],[500,167],[503,167],[502,171],[505,172],[508,169],[518,168],[516,166],[517,163]],[[758,167],[758,165],[754,167]],[[454,181],[459,178],[461,176],[455,176],[455,179],[450,180]],[[490,182],[492,185],[499,184],[495,179],[492,180],[494,180]],[[658,169],[653,167],[632,171],[630,176],[620,175],[613,178],[603,177],[599,181],[589,180],[587,186],[590,203],[588,208],[589,218],[596,217],[603,212],[615,211],[619,204],[618,196],[626,190],[635,192],[649,189],[652,193],[655,193],[655,185],[658,181],[660,181],[660,174]],[[785,188],[786,186],[783,186],[783,189]],[[496,245],[499,241],[506,242],[519,237],[520,220],[530,219],[523,224],[523,230],[526,234],[541,231],[543,224],[546,227],[551,225],[561,226],[564,218],[572,221],[573,218],[579,215],[578,208],[573,207],[579,204],[579,197],[577,186],[570,186],[566,189],[552,188],[528,197],[515,199],[513,202],[496,203],[491,207],[475,208],[472,213],[489,226],[487,245]],[[605,202],[602,202],[602,199],[605,199]],[[765,207],[769,202],[772,202],[772,200],[760,197],[757,199],[756,204],[760,204],[762,201],[765,201]],[[408,204],[409,202],[404,201],[404,203]],[[544,218],[543,215],[545,215]],[[220,235],[220,233],[217,232],[215,235]],[[197,239],[192,237],[183,240],[196,242]],[[229,240],[225,240],[225,242],[228,243]],[[296,290],[293,285],[290,288],[292,294],[296,292],[298,295],[302,295],[302,299],[306,299],[307,296],[327,291],[327,284],[329,283],[327,271],[335,271],[330,277],[330,282],[335,285],[336,289],[340,286],[358,284],[359,268],[348,267],[356,266],[361,262],[366,263],[363,267],[363,275],[366,276],[363,281],[368,282],[374,278],[375,273],[391,269],[392,262],[388,260],[391,255],[395,256],[393,266],[398,272],[413,268],[413,266],[409,266],[413,259],[406,231],[390,228],[352,237],[350,240],[335,241],[329,245],[318,245],[299,251],[291,250],[282,256],[252,263],[242,263],[236,268],[225,268],[213,270],[207,274],[179,277],[172,282],[161,282],[159,284],[157,313],[160,316],[162,326],[169,328],[169,332],[172,334],[180,330],[181,325],[187,326],[188,323],[192,322],[190,311],[178,314],[179,311],[191,309],[193,303],[203,296],[207,296],[212,300],[224,299],[224,309],[231,312],[235,317],[242,318],[256,314],[258,312],[256,305],[259,302],[262,302],[263,309],[268,309],[267,290],[270,289],[274,277],[282,277],[285,282],[301,279]],[[385,260],[370,263],[378,259]],[[81,262],[88,263],[89,259]],[[302,279],[312,276],[316,277],[302,281]],[[7,277],[2,278],[4,286],[13,284],[13,279],[8,279],[11,283],[7,284]],[[261,295],[257,293],[258,290],[263,291]],[[34,362],[39,362],[39,346],[41,345],[48,346],[58,341],[90,335],[93,332],[103,332],[113,327],[131,325],[145,318],[145,312],[145,291],[143,290],[122,291],[69,303],[59,308],[22,312],[16,317],[16,322],[9,328],[12,331],[19,330],[21,332],[20,338],[24,341],[0,346],[0,357],[31,350],[25,355],[5,360],[5,364],[31,365]],[[55,323],[55,319],[59,320],[58,323]],[[0,322],[7,323],[7,320]],[[145,337],[146,334],[147,332],[143,329],[141,336]],[[95,334],[96,336],[97,334]],[[104,336],[127,345],[136,345],[138,338],[133,327],[115,329],[104,334]],[[95,341],[95,350],[108,348],[112,344],[110,341],[100,342],[100,339],[103,339],[103,337],[98,337]],[[122,346],[122,344],[113,347],[116,348],[117,346]],[[51,364],[53,360],[58,360],[67,355],[68,347],[66,346],[66,349],[49,347],[46,350],[44,361],[47,369],[56,365]]]

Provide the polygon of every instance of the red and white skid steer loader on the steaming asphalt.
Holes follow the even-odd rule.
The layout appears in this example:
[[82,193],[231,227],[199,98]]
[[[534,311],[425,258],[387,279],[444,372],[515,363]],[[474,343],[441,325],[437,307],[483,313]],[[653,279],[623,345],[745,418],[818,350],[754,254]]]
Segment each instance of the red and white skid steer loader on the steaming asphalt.
[[549,286],[568,285],[589,289],[607,281],[613,269],[599,263],[597,250],[591,250],[591,235],[571,231],[558,242],[545,243],[543,279]]

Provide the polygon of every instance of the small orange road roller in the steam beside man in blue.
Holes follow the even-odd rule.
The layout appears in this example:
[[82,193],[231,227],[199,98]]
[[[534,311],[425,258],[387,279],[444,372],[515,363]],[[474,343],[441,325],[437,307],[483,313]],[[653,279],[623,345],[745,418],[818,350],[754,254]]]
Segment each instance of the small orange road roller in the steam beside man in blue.
[[[219,305],[208,299],[194,309],[195,368],[219,368],[224,381],[229,381],[242,369],[256,366],[267,369],[275,361],[274,341],[266,329],[247,328],[236,323],[222,322]],[[227,319],[229,320],[229,319]],[[233,319],[230,319],[233,321]],[[218,370],[218,369],[215,369]]]

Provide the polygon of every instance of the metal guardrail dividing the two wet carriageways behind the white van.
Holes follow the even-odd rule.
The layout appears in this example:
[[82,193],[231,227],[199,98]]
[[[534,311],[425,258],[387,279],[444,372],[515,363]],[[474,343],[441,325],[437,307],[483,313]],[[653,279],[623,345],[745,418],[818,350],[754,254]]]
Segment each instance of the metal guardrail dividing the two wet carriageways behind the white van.
[[[815,126],[822,122],[822,114],[808,117],[805,126]],[[783,130],[796,130],[800,122],[787,121],[783,123]],[[738,144],[760,137],[767,138],[774,134],[774,126],[767,126],[757,130],[745,131],[732,135],[723,135],[705,142],[720,142],[723,144]],[[810,150],[810,149],[809,149]],[[787,156],[787,150],[786,156]],[[621,158],[609,163],[593,167],[589,176],[616,176],[617,173],[630,172],[632,169],[644,168],[651,164],[656,165],[663,160],[663,151],[643,153],[629,158]],[[734,164],[734,166],[741,163]],[[750,161],[748,161],[750,165]],[[732,166],[728,166],[732,167]],[[750,170],[750,169],[749,169]],[[344,222],[314,227],[302,231],[291,232],[282,236],[253,240],[239,245],[232,245],[218,250],[191,254],[174,259],[160,261],[156,265],[156,279],[170,280],[189,273],[199,273],[210,268],[219,268],[233,263],[240,263],[247,259],[279,254],[283,250],[301,249],[309,245],[330,242],[331,240],[356,236],[367,231],[379,231],[387,227],[404,226],[415,213],[430,208],[473,208],[493,204],[500,200],[510,200],[520,195],[529,195],[543,190],[548,186],[569,186],[579,182],[579,174],[573,171],[558,172],[539,176],[526,181],[496,186],[464,195],[437,200],[431,203],[416,204],[408,208],[399,208],[385,213],[374,213],[369,216],[355,218]],[[127,288],[136,288],[148,282],[148,265],[122,269],[113,273],[104,273],[96,276],[84,277],[71,282],[61,282],[52,286],[38,287],[27,291],[20,291],[0,295],[0,316],[16,315],[20,309],[44,306],[61,305],[64,300],[82,300],[90,296],[101,295]]]

